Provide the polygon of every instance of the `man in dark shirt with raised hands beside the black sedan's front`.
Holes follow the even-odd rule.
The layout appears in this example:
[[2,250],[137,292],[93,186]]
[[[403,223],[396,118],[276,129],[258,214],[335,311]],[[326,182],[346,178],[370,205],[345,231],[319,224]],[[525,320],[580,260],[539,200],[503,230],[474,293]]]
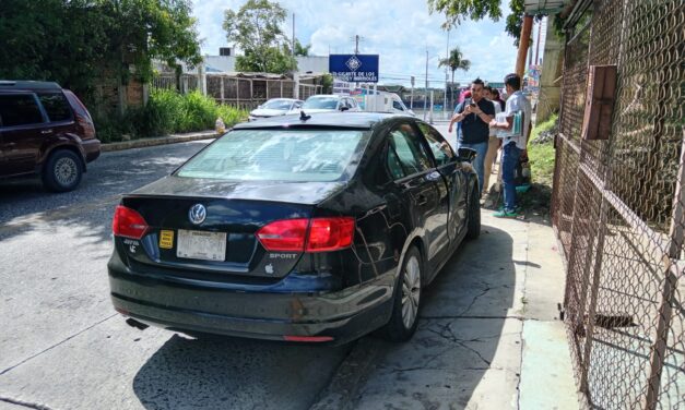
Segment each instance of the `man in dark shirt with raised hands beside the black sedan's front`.
[[452,132],[454,122],[461,124],[461,133],[457,140],[457,147],[475,149],[475,173],[479,176],[479,192],[483,191],[484,164],[487,154],[489,129],[487,124],[495,117],[495,106],[483,98],[483,80],[475,79],[471,83],[471,98],[464,99],[449,122],[448,132]]

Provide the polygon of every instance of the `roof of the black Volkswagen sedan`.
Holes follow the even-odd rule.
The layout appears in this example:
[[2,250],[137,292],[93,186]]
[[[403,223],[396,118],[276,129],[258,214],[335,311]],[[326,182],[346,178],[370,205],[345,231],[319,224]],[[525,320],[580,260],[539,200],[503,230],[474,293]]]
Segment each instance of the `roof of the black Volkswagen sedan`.
[[[305,110],[306,113],[306,110]],[[247,129],[276,129],[276,128],[350,128],[371,129],[379,122],[394,118],[416,120],[414,117],[402,113],[387,112],[314,112],[306,121],[299,114],[267,118],[259,121],[236,124],[234,130]]]

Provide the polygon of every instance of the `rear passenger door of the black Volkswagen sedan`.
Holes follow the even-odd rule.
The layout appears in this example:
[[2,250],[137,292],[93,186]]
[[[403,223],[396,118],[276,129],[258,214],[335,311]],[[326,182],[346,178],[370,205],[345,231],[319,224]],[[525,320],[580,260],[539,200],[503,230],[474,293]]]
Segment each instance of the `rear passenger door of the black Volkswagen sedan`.
[[448,197],[442,177],[422,140],[421,132],[409,122],[391,129],[387,161],[412,228],[418,229],[425,239],[432,275],[449,250]]

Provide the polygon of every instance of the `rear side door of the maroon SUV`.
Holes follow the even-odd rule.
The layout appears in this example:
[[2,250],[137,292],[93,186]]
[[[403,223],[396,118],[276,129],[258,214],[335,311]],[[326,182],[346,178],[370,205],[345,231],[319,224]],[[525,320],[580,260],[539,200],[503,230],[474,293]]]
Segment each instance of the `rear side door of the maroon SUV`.
[[34,172],[51,132],[35,94],[0,94],[0,176]]

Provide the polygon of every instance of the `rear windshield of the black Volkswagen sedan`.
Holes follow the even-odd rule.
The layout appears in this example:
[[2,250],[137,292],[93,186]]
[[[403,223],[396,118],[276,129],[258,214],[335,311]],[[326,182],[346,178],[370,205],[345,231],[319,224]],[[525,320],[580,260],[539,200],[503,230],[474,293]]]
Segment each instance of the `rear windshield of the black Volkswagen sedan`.
[[[349,178],[367,138],[362,130],[237,130],[176,173],[235,181],[324,182]],[[352,173],[352,170],[350,171]]]

